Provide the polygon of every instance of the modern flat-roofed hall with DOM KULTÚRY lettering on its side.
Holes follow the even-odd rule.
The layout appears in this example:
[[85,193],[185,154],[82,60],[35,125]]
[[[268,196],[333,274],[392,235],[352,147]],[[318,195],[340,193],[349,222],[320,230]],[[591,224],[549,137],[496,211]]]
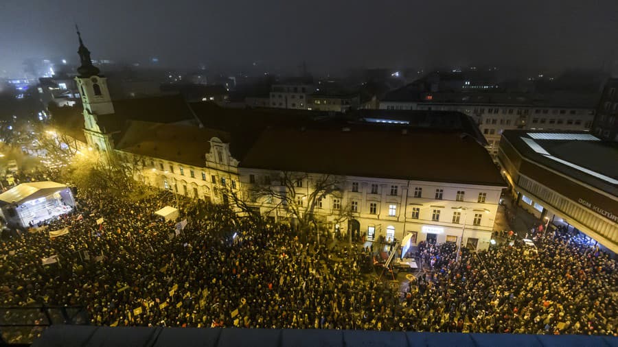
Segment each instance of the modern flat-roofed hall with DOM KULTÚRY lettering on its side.
[[498,158],[518,206],[618,252],[618,143],[587,132],[506,130]]

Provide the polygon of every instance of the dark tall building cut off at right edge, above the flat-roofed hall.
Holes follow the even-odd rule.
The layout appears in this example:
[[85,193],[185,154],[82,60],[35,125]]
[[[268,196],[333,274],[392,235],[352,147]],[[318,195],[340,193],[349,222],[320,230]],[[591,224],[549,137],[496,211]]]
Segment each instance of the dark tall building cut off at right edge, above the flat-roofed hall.
[[608,80],[603,89],[592,131],[601,139],[618,141],[618,78]]

